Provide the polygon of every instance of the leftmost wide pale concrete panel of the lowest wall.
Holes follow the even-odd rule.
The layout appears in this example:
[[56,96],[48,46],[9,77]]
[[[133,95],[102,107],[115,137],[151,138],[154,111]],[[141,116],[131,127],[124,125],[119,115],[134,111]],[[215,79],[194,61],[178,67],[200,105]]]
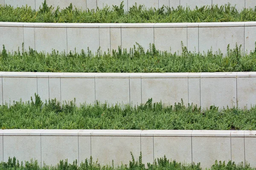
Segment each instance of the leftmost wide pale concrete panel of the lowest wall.
[[3,161],[16,157],[19,162],[30,159],[41,162],[41,139],[39,136],[3,136]]

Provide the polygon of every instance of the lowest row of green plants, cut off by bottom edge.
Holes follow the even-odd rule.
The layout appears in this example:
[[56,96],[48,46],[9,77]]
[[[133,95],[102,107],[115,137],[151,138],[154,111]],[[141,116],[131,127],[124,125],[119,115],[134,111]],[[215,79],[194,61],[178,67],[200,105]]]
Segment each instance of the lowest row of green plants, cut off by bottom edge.
[[[38,161],[26,161],[19,162],[14,157],[13,159],[8,159],[7,162],[0,163],[0,170],[202,170],[200,167],[200,163],[195,164],[181,164],[179,162],[170,161],[163,158],[155,159],[154,163],[148,163],[147,168],[145,168],[145,164],[142,163],[142,156],[140,154],[139,161],[135,161],[132,155],[132,161],[127,164],[122,164],[120,166],[115,167],[112,165],[100,165],[97,162],[93,162],[92,157],[90,159],[86,159],[81,162],[80,166],[78,166],[77,161],[74,161],[73,164],[69,164],[67,159],[65,161],[61,160],[56,166],[47,166],[43,165],[41,167],[38,164]],[[255,168],[250,167],[249,164],[235,164],[232,161],[228,161],[226,164],[225,161],[215,161],[215,164],[210,168],[211,170],[255,170]],[[208,170],[208,169],[207,169]]]

